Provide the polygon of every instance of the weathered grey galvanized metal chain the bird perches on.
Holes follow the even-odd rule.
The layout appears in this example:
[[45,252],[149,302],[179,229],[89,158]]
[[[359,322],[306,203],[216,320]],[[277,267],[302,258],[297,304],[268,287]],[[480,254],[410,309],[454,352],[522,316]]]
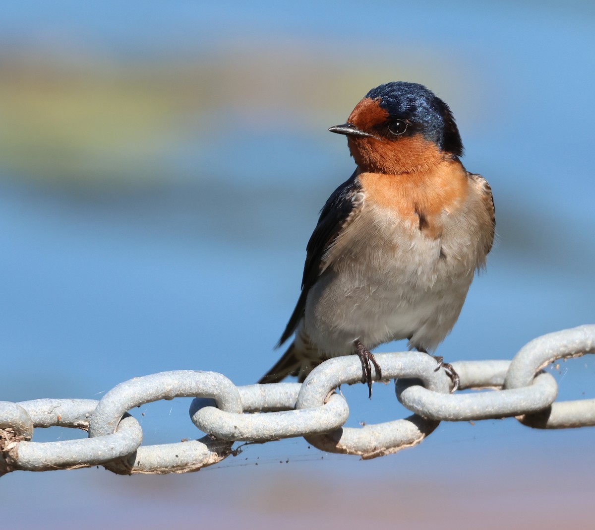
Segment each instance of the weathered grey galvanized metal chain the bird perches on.
[[[384,379],[396,380],[396,395],[414,412],[405,419],[344,428],[349,407],[335,390],[361,381],[355,356],[320,364],[303,384],[235,386],[216,372],[161,372],[121,383],[99,400],[0,401],[0,475],[102,465],[114,473],[184,473],[220,462],[236,441],[304,437],[323,451],[363,459],[412,447],[441,420],[468,421],[515,416],[536,428],[595,425],[595,399],[555,403],[558,385],[540,370],[559,358],[595,353],[595,325],[534,339],[512,361],[459,361],[453,367],[460,390],[436,362],[417,352],[376,354]],[[190,418],[206,436],[187,442],[142,445],[142,428],[127,413],[133,407],[175,397],[194,397]],[[84,429],[86,439],[33,442],[35,428]]]

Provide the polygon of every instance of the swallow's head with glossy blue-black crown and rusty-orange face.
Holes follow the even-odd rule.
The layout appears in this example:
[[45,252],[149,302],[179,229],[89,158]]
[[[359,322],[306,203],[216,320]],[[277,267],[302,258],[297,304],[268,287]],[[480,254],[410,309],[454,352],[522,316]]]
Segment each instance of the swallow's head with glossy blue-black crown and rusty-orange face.
[[421,172],[463,153],[448,105],[418,83],[377,86],[346,123],[328,130],[347,136],[349,151],[365,172]]

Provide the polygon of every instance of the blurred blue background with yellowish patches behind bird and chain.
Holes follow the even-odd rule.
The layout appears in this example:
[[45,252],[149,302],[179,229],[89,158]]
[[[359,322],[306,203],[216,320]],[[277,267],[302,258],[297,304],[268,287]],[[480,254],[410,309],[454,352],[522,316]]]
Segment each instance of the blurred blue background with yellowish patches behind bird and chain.
[[[327,128],[391,80],[450,105],[496,202],[487,273],[438,353],[510,359],[595,322],[594,22],[580,0],[4,5],[0,400],[99,399],[162,370],[255,382],[281,353],[318,211],[353,171]],[[560,398],[595,397],[592,357],[550,368]],[[347,425],[406,415],[392,385],[343,392]],[[200,437],[189,401],[134,410],[143,442]],[[489,420],[365,462],[292,439],[184,476],[15,472],[2,519],[585,527],[594,437]]]

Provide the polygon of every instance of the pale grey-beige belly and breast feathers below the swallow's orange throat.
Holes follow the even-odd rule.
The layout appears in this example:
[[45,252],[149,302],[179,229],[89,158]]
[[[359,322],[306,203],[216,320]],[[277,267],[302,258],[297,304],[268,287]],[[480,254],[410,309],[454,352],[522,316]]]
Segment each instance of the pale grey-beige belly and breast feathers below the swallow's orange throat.
[[393,339],[433,350],[458,319],[483,265],[481,220],[471,200],[441,214],[439,236],[378,204],[361,202],[329,249],[306,300],[300,332],[322,358]]

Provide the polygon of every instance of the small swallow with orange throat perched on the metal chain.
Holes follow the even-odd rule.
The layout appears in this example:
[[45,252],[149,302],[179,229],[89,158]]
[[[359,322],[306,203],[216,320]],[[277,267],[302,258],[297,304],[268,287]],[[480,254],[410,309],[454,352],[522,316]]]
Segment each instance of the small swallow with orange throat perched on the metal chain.
[[[372,395],[370,350],[407,339],[431,354],[456,323],[496,226],[490,185],[461,163],[449,106],[419,83],[369,91],[346,123],[356,169],[328,198],[306,246],[302,290],[277,347],[289,348],[259,381],[297,376],[357,354]],[[453,379],[452,366],[435,357]]]

